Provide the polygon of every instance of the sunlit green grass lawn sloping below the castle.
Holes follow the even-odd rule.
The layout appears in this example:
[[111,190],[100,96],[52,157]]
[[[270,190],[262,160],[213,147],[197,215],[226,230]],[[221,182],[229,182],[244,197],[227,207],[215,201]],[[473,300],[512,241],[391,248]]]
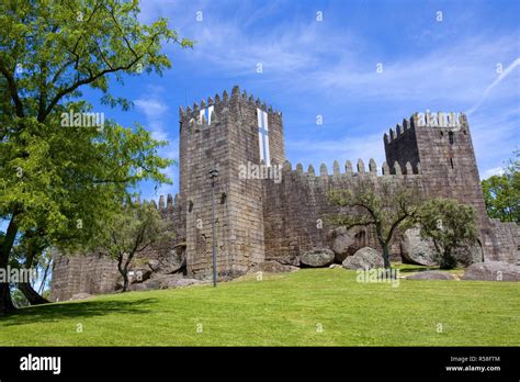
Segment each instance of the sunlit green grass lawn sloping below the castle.
[[[402,267],[402,272],[416,268]],[[216,289],[27,307],[0,318],[0,346],[520,345],[518,283],[399,280],[393,288],[359,283],[355,276],[304,269]]]

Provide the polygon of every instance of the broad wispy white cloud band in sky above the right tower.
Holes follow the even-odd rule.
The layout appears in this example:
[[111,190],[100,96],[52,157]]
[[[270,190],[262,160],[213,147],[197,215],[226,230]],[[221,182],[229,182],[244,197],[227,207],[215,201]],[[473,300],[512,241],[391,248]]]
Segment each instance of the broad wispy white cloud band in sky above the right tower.
[[[479,94],[496,76],[496,57],[516,54],[515,37],[500,42],[475,36],[471,41],[454,42],[450,46],[431,49],[423,55],[406,55],[382,60],[383,72],[376,72],[380,60],[350,53],[335,65],[326,65],[314,72],[313,86],[321,85],[328,93],[339,91],[350,97],[380,101],[418,101],[428,103],[451,103],[459,110],[474,104]],[[464,54],[461,54],[464,52]],[[500,77],[511,71],[508,68]],[[495,83],[496,85],[496,83]],[[500,97],[516,91],[512,81]],[[490,90],[490,89],[489,89]],[[486,93],[489,91],[487,90]]]

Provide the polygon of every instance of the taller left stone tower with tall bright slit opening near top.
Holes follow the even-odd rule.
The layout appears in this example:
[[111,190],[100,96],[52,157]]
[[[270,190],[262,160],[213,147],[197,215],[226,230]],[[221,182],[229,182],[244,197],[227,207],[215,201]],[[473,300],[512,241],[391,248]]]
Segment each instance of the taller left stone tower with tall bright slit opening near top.
[[241,166],[285,159],[282,115],[235,87],[180,110],[180,199],[185,205],[188,273],[212,271],[210,170],[215,184],[217,271],[237,276],[264,260],[263,181]]

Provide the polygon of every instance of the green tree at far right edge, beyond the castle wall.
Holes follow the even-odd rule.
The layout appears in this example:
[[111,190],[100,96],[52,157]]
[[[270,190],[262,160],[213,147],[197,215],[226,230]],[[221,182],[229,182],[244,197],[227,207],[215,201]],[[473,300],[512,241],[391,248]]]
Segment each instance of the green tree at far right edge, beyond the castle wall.
[[520,224],[520,150],[509,159],[505,173],[482,181],[484,200],[490,217]]

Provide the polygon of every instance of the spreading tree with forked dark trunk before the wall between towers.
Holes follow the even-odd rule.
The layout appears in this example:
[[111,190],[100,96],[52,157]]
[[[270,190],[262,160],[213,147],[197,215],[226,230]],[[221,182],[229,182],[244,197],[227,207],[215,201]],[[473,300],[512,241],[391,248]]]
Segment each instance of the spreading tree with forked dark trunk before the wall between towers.
[[331,217],[336,226],[350,229],[355,226],[373,226],[383,249],[386,269],[391,269],[389,244],[397,228],[406,227],[417,213],[418,193],[389,181],[380,187],[371,181],[360,182],[350,190],[331,190],[327,198],[338,206],[350,207],[341,215]]

